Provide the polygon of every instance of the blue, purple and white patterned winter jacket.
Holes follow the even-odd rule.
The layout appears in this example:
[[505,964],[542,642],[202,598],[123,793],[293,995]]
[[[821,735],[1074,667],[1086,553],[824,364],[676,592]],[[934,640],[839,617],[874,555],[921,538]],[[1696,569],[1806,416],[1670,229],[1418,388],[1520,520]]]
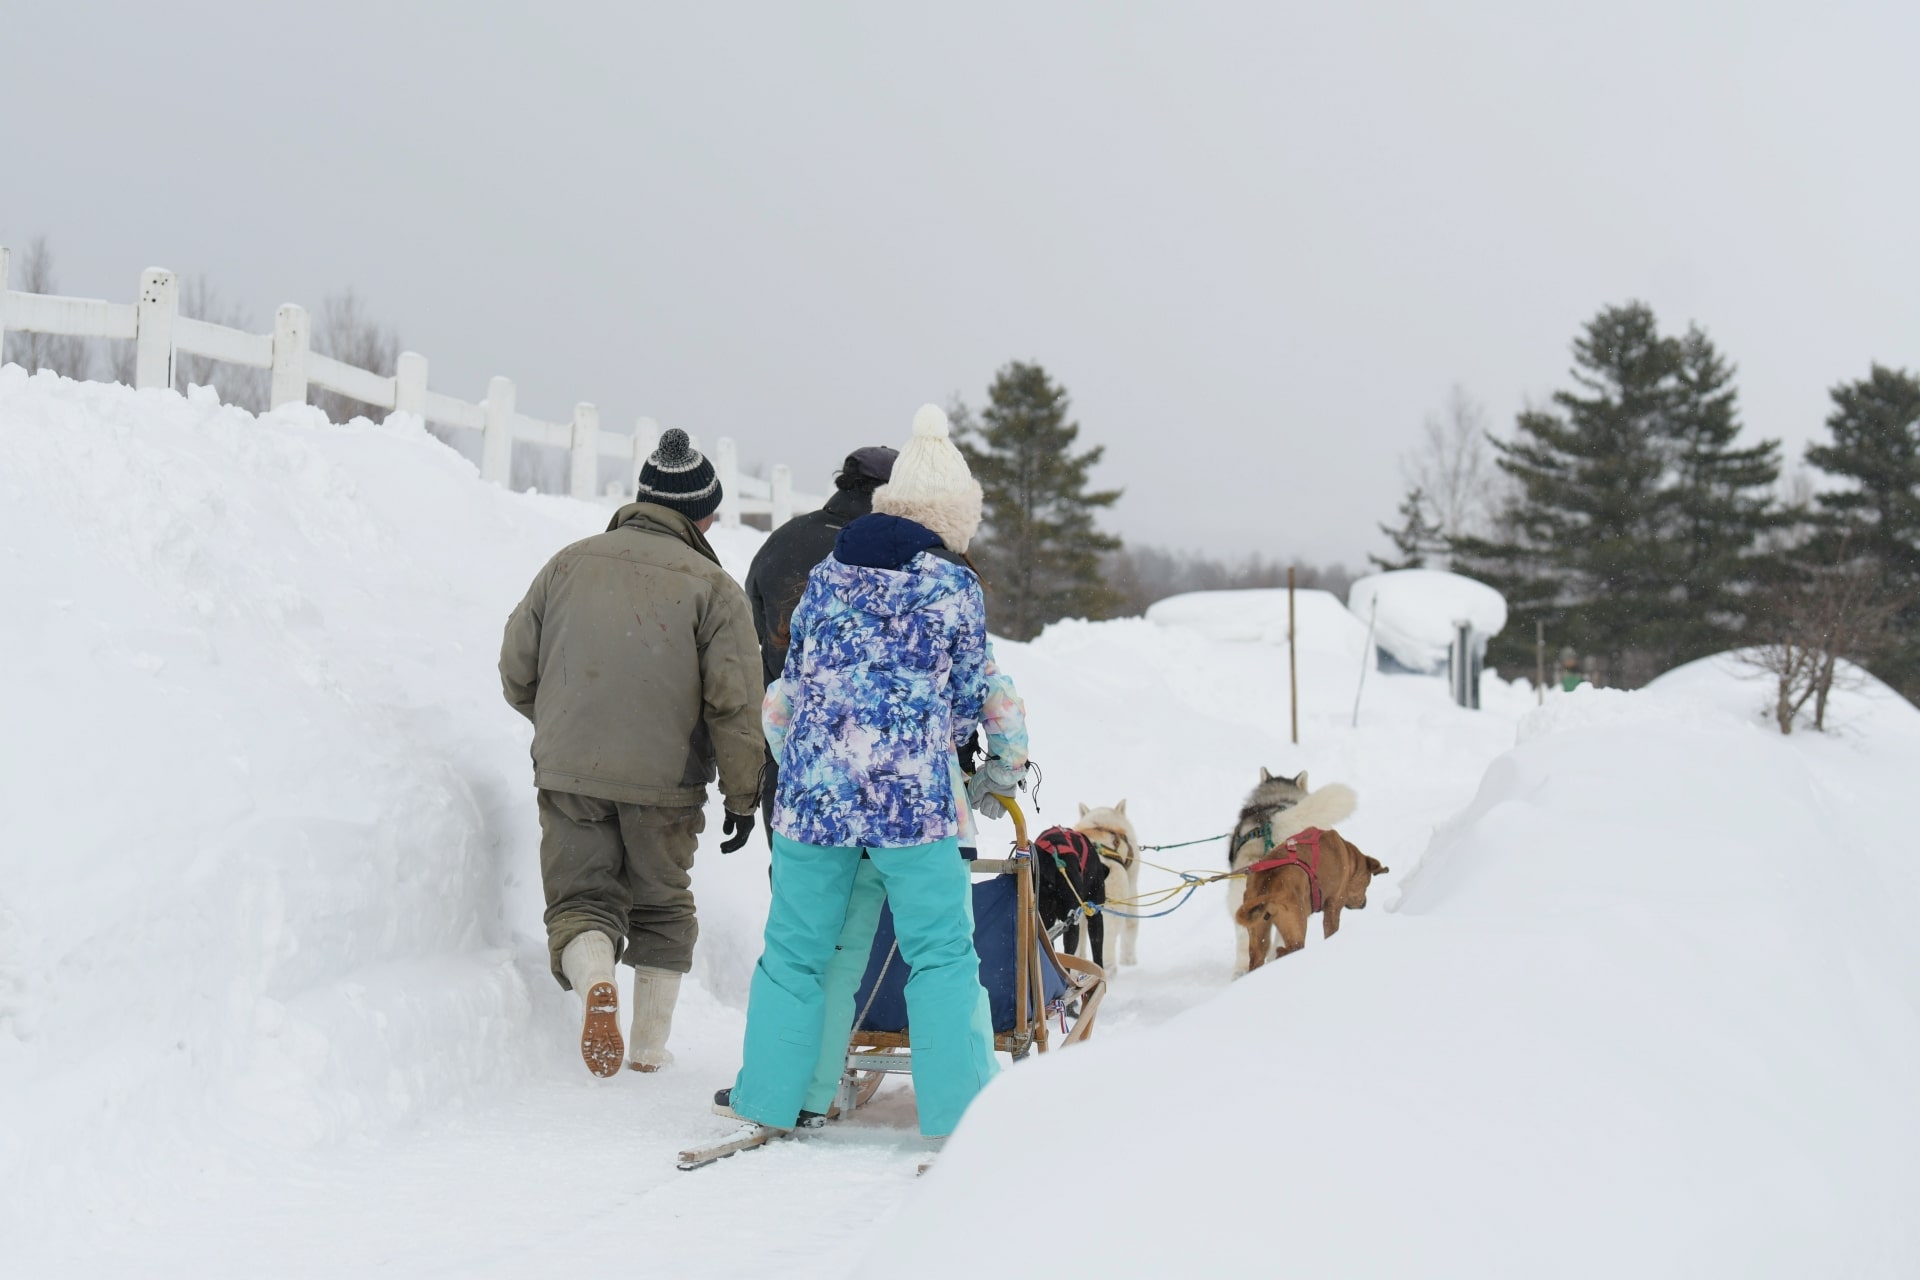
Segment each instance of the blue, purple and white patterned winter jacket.
[[828,557],[789,626],[764,706],[780,762],[774,831],[839,848],[960,835],[954,741],[987,702],[979,580],[925,551],[899,570]]

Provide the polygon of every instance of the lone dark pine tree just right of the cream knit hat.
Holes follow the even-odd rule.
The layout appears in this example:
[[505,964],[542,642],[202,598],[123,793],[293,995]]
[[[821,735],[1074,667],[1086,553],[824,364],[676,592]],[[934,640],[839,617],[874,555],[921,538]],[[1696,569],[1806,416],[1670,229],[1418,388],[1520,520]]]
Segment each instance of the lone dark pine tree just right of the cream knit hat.
[[1094,512],[1117,489],[1089,491],[1087,472],[1106,453],[1073,453],[1079,424],[1068,422],[1068,393],[1039,365],[1014,361],[987,391],[975,424],[954,407],[956,443],[985,489],[985,520],[973,562],[987,583],[993,629],[1033,639],[1060,618],[1106,618],[1119,593],[1100,576],[1100,557],[1119,539],[1094,528]]

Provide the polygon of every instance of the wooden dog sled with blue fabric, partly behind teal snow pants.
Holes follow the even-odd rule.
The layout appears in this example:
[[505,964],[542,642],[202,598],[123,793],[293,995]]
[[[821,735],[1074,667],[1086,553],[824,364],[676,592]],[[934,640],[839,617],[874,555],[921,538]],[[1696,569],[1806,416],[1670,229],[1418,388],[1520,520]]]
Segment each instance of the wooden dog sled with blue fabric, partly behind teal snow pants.
[[[1014,848],[1008,858],[972,864],[973,950],[979,952],[979,981],[993,1007],[993,1048],[1020,1061],[1035,1050],[1048,1050],[1056,1017],[1062,1021],[1062,1046],[1092,1034],[1094,1013],[1106,996],[1106,971],[1054,950],[1035,900],[1025,814],[1012,800],[1000,802],[1014,819]],[[895,946],[893,913],[881,912],[874,954],[854,996],[860,1015],[847,1044],[847,1073],[835,1102],[843,1117],[870,1102],[887,1075],[912,1071],[906,979],[906,961]],[[1066,1027],[1069,1009],[1077,1009],[1071,1029]]]

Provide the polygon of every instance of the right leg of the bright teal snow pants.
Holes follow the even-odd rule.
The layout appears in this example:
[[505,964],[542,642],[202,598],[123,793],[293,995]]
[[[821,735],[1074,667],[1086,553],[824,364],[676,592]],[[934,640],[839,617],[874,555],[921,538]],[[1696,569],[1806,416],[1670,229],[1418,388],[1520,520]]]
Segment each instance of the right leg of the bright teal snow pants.
[[958,841],[916,848],[870,848],[887,887],[906,981],[920,1132],[950,1134],[973,1096],[998,1071],[993,1027],[983,1027],[987,992],[973,952],[972,883]]

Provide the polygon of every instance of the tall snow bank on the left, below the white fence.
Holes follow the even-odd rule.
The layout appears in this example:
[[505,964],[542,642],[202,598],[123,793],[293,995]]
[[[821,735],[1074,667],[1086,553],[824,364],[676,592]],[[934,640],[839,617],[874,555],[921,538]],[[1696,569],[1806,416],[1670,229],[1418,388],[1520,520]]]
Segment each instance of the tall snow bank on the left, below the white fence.
[[[553,1071],[578,1015],[493,664],[609,509],[419,422],[17,367],[0,457],[0,1236]],[[743,1000],[764,864],[697,889]]]

